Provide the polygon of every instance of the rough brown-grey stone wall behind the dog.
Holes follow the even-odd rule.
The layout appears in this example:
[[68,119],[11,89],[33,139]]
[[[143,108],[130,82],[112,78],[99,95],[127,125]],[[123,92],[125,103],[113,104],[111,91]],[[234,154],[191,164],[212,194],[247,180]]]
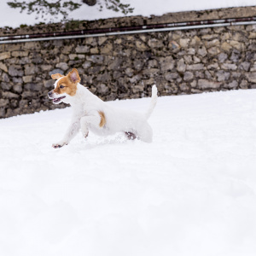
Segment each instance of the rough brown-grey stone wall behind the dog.
[[[191,16],[188,21],[199,16],[201,20],[241,17],[252,9],[255,11],[214,10],[208,11],[208,16],[207,12],[189,12],[187,17]],[[186,15],[179,15],[183,21]],[[127,25],[129,19],[133,26],[161,23],[160,17],[131,17],[119,19],[119,25]],[[111,20],[76,26],[105,27]],[[164,15],[163,21],[177,21],[177,14]],[[42,31],[47,27],[61,31],[66,25],[41,26]],[[35,28],[38,26],[3,28],[1,33],[32,33]],[[153,84],[160,96],[256,88],[256,26],[1,44],[0,117],[64,108],[64,104],[53,105],[47,98],[54,84],[50,74],[67,73],[73,67],[79,70],[81,83],[107,101],[150,96]]]

